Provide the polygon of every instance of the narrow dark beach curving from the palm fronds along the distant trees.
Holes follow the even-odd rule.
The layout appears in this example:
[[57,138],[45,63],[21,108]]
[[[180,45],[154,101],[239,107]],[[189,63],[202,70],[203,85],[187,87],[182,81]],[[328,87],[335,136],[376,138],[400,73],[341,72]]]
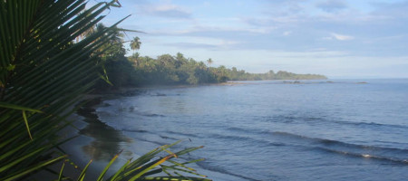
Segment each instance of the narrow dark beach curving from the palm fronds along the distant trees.
[[[277,80],[282,81],[283,80]],[[118,97],[130,97],[141,94],[151,89],[177,89],[197,86],[236,86],[242,84],[251,84],[251,81],[227,81],[223,83],[199,84],[199,85],[167,85],[167,86],[145,86],[145,87],[127,87],[118,90],[109,90],[103,93],[85,94],[83,98],[73,105],[72,108],[79,107],[69,119],[75,120],[73,127],[63,129],[62,134],[65,138],[76,137],[62,145],[63,150],[73,160],[78,167],[84,167],[91,159],[92,165],[105,165],[109,163],[112,157],[123,150],[123,145],[131,143],[131,138],[122,134],[121,130],[116,130],[103,123],[95,113],[98,106],[102,105],[103,100],[115,99]],[[140,141],[140,140],[138,140]],[[149,142],[148,140],[146,142]],[[134,152],[134,150],[131,150]],[[143,152],[144,151],[144,152]],[[149,151],[145,149],[138,152],[141,155]],[[126,150],[121,156],[129,157],[131,154]],[[92,168],[92,165],[90,168]],[[103,167],[99,167],[102,170]],[[81,170],[78,169],[76,174],[79,175]],[[93,173],[93,172],[92,172]]]

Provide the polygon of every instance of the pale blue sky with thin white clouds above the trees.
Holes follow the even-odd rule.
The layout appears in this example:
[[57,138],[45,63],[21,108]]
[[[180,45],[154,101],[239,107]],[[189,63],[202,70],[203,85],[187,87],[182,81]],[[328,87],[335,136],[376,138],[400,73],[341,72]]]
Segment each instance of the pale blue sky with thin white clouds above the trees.
[[141,56],[181,52],[256,73],[408,78],[408,0],[119,2],[103,24],[131,14],[120,27],[144,32],[126,33],[141,38]]

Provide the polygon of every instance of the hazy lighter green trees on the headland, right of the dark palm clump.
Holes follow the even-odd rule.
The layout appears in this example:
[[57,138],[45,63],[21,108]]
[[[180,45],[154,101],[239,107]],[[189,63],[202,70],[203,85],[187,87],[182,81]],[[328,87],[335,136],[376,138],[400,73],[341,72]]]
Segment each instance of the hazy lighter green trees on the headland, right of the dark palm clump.
[[[311,80],[326,79],[316,74],[296,74],[287,71],[268,71],[267,73],[249,73],[225,66],[210,67],[206,63],[185,58],[182,53],[175,56],[163,54],[156,59],[151,57],[129,57],[134,68],[133,83],[148,84],[201,84],[225,81],[259,81],[259,80]],[[124,63],[123,63],[124,64]]]

